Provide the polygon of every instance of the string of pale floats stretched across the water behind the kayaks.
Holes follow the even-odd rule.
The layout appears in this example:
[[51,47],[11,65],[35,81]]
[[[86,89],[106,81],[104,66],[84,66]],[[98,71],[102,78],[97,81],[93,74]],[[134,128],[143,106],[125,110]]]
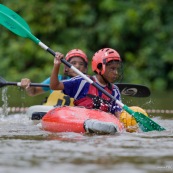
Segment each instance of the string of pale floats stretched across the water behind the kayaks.
[[[17,113],[17,112],[26,112],[28,107],[8,107],[8,108],[0,108],[0,113],[2,113],[4,110],[9,113]],[[41,110],[40,110],[41,111]],[[173,114],[173,110],[164,110],[164,109],[145,109],[147,113],[157,113],[157,114]]]

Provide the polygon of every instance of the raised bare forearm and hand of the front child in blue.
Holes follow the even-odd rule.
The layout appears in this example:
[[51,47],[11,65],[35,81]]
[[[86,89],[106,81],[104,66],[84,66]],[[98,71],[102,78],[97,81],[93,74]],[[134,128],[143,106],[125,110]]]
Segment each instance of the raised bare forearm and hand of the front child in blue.
[[60,65],[61,65],[61,58],[63,58],[64,55],[56,52],[55,58],[54,58],[54,66],[52,70],[52,74],[50,76],[50,88],[52,90],[63,90],[64,84],[60,82],[57,78],[57,75],[59,73]]

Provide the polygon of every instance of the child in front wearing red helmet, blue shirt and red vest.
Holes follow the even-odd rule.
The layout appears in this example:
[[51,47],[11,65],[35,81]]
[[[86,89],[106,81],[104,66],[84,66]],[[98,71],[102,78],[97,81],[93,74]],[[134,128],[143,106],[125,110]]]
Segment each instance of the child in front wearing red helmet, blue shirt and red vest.
[[[50,78],[50,88],[63,90],[64,94],[74,98],[75,106],[84,106],[88,109],[100,109],[115,114],[118,118],[122,109],[80,76],[59,81],[57,75],[64,55],[56,52],[54,67]],[[90,77],[100,87],[121,101],[118,87],[113,83],[119,78],[122,61],[117,51],[104,48],[97,51],[92,58],[92,71],[95,76]]]

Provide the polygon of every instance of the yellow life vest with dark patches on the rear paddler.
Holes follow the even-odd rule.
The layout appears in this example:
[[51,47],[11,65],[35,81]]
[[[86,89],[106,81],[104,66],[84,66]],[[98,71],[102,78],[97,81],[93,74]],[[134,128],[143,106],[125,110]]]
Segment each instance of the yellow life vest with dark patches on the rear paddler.
[[62,91],[53,91],[44,105],[47,106],[74,106],[74,99],[65,95]]

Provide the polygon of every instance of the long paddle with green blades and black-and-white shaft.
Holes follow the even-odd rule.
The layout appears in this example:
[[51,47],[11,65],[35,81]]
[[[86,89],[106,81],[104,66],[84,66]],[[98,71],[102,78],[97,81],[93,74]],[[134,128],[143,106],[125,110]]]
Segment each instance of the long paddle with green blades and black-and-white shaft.
[[[23,18],[21,18],[18,14],[16,14],[14,11],[11,9],[7,8],[6,6],[0,4],[0,24],[2,24],[4,27],[12,31],[13,33],[29,38],[36,44],[38,44],[41,48],[55,56],[55,52],[50,49],[48,46],[46,46],[44,43],[42,43],[38,38],[36,38],[31,32],[28,24],[24,21]],[[74,70],[78,75],[83,77],[87,82],[95,86],[97,89],[102,91],[106,96],[111,98],[112,100],[115,100],[116,103],[122,107],[126,112],[128,112],[130,115],[132,115],[139,127],[141,128],[142,131],[148,132],[148,131],[163,131],[165,128],[161,127],[159,124],[154,122],[152,119],[149,117],[145,116],[142,113],[139,112],[134,112],[132,109],[130,109],[127,105],[124,105],[122,102],[119,100],[116,100],[115,97],[113,97],[111,94],[109,94],[106,90],[101,88],[97,83],[92,81],[89,77],[87,77],[85,74],[83,74],[81,71],[76,69],[73,65],[71,65],[69,62],[67,62],[65,59],[61,59],[61,62],[64,63],[66,66]]]

